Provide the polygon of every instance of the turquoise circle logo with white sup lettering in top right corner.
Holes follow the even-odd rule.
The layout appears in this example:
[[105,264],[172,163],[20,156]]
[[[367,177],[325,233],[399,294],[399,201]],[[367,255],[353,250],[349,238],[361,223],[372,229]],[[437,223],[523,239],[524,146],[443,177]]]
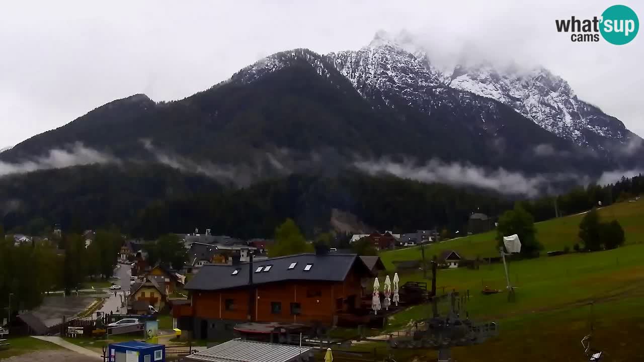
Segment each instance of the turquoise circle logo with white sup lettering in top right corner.
[[601,13],[601,36],[615,45],[627,44],[638,35],[638,15],[625,5],[613,5]]

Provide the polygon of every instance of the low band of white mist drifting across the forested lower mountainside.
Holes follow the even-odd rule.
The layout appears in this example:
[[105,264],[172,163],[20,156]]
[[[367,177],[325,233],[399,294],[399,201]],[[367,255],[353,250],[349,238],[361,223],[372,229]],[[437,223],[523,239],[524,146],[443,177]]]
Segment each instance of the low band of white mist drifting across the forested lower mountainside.
[[[212,162],[195,162],[189,158],[162,151],[151,140],[141,141],[144,148],[153,155],[156,162],[185,173],[198,173],[226,182],[237,187],[249,186],[264,176],[285,176],[291,173],[316,172],[319,169],[343,169],[346,158],[334,151],[319,151],[308,154],[294,154],[287,149],[276,149],[274,152],[258,153],[254,162],[248,164],[213,164]],[[554,150],[548,145],[540,146],[535,152],[549,154]],[[506,195],[523,195],[534,197],[544,193],[560,193],[573,184],[587,186],[591,182],[606,185],[617,182],[622,176],[632,177],[644,173],[643,169],[613,170],[604,172],[599,178],[578,175],[576,173],[545,173],[526,175],[519,171],[508,171],[502,167],[486,169],[484,167],[446,163],[437,159],[430,160],[423,166],[414,162],[393,162],[388,158],[363,160],[355,158],[350,162],[354,167],[370,175],[386,173],[420,182],[440,182],[453,186],[473,186],[490,189]],[[82,144],[74,144],[66,149],[52,149],[43,157],[35,157],[20,163],[0,161],[0,176],[14,173],[28,173],[39,169],[64,168],[86,164],[120,163],[121,160]]]

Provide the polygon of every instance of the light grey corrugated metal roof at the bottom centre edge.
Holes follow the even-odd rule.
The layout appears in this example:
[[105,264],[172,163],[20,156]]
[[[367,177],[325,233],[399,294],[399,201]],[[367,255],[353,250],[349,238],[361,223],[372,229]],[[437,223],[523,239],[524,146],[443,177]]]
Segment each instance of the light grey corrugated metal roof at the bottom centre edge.
[[191,354],[189,361],[208,362],[289,362],[298,356],[306,358],[313,348],[232,339]]

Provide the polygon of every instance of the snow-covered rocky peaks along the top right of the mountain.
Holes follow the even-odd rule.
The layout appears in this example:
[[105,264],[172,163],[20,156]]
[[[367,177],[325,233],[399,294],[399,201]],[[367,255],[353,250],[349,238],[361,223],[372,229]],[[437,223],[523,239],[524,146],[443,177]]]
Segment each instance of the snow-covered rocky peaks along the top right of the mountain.
[[453,88],[498,100],[558,137],[596,151],[605,151],[607,142],[623,144],[632,137],[620,120],[579,100],[568,82],[544,67],[498,66],[462,58],[457,66],[437,68],[424,43],[404,30],[379,30],[361,50],[328,57],[363,95],[397,90],[410,104],[426,104],[422,99],[430,95],[423,90]]

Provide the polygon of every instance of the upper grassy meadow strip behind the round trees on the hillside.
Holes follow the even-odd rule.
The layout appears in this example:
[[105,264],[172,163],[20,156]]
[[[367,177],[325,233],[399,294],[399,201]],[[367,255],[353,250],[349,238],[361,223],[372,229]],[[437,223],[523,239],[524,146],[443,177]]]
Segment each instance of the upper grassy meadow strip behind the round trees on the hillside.
[[[627,244],[644,242],[644,222],[641,221],[644,220],[644,200],[614,204],[601,208],[599,212],[604,221],[613,218],[619,220],[624,228]],[[574,243],[578,242],[578,226],[582,218],[583,214],[578,214],[535,224],[537,238],[544,244],[543,252],[562,250],[566,246],[572,250]],[[433,255],[439,255],[440,252],[450,249],[459,252],[466,258],[498,256],[498,252],[495,250],[496,236],[496,231],[490,231],[429,245],[425,249],[426,258],[431,258]],[[382,252],[380,257],[387,269],[393,270],[392,262],[394,260],[420,260],[421,249],[412,247],[386,251]]]

